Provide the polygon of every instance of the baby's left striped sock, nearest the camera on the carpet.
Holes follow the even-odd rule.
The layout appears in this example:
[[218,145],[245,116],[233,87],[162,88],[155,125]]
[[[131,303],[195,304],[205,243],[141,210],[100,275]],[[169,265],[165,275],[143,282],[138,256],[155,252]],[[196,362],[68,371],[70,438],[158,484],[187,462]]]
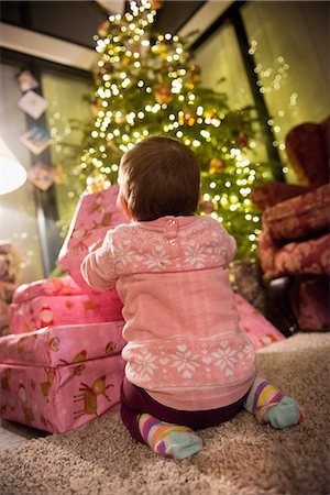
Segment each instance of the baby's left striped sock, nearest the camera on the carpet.
[[202,449],[200,438],[190,428],[158,421],[145,413],[139,417],[139,429],[145,443],[164,458],[185,459]]

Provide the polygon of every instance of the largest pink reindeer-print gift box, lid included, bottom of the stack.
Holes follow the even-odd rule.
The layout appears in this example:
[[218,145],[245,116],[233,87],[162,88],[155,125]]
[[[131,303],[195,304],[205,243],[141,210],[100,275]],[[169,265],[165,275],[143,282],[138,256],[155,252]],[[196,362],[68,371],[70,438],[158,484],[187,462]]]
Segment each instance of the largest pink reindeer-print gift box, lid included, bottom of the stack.
[[47,327],[0,339],[1,417],[50,432],[120,400],[123,321]]

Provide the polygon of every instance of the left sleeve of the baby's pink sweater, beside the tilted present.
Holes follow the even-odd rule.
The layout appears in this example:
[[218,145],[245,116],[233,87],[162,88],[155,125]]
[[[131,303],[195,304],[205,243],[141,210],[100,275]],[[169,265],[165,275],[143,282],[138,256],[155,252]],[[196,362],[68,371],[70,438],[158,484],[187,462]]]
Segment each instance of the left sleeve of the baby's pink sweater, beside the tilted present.
[[87,254],[80,265],[85,282],[100,290],[112,288],[118,279],[112,253],[112,231],[109,231],[100,248]]

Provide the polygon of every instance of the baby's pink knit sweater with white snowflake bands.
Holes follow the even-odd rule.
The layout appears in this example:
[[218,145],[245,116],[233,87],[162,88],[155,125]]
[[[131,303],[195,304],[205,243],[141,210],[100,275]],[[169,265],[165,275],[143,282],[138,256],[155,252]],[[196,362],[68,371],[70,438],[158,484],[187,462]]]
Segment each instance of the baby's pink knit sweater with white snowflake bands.
[[123,301],[128,380],[180,410],[224,407],[255,375],[227,265],[235,241],[210,217],[163,217],[111,230],[86,256],[88,284]]

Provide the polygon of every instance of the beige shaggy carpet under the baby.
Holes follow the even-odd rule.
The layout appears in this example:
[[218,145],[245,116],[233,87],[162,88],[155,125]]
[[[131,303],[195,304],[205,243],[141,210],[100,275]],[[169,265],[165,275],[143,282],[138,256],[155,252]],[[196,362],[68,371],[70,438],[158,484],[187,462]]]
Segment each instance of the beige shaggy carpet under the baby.
[[117,413],[0,454],[2,495],[328,495],[330,333],[297,334],[258,352],[260,372],[302,405],[277,431],[245,411],[200,432],[205,448],[174,462],[130,439]]

